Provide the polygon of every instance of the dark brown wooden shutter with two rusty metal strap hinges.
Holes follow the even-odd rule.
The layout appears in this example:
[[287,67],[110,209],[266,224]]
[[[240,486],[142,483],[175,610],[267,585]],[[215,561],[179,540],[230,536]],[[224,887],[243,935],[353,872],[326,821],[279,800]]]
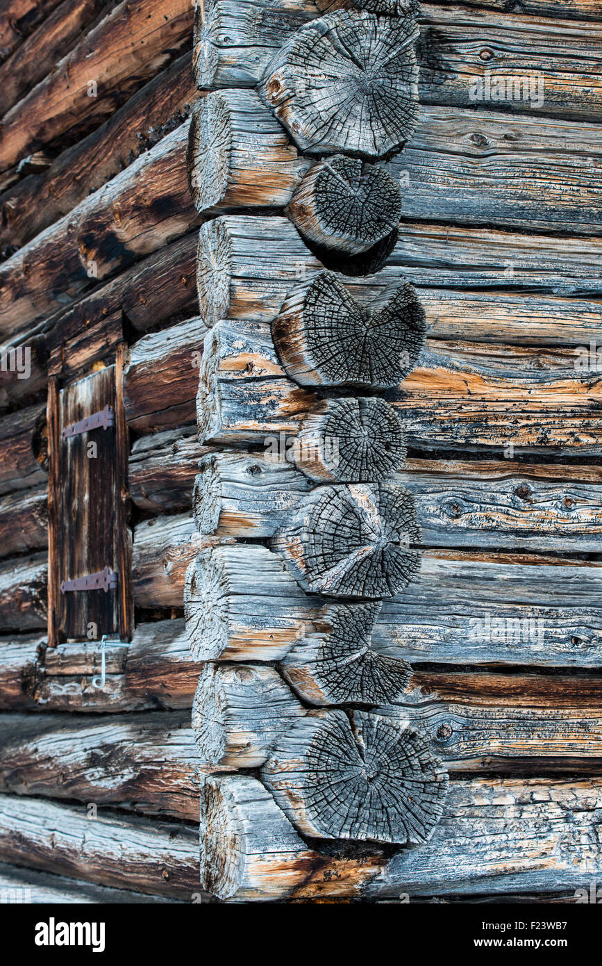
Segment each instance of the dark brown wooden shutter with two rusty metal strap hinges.
[[[115,365],[48,390],[48,639],[126,639],[131,634],[130,535],[126,522],[127,443],[122,355]],[[75,424],[110,413],[113,425]],[[96,421],[96,420],[95,420]],[[106,420],[105,420],[106,422]],[[69,427],[73,427],[69,431]],[[65,431],[68,434],[65,435]],[[71,435],[72,434],[72,435]],[[81,579],[108,568],[115,582],[83,589]],[[65,582],[79,579],[76,588]]]

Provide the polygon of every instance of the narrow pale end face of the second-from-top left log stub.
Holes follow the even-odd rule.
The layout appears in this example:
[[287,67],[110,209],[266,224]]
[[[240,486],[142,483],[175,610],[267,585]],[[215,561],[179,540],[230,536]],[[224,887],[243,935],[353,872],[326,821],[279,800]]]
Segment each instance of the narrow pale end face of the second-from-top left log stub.
[[190,121],[187,169],[195,207],[205,212],[226,193],[232,152],[228,101],[214,91],[197,100]]

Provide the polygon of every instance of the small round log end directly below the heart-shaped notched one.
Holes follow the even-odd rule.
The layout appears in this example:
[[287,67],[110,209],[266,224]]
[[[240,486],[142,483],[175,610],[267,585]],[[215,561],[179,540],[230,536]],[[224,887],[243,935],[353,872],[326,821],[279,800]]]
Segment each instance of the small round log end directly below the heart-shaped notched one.
[[[405,433],[390,403],[347,397],[328,400],[325,409],[309,415],[298,434],[297,466],[307,476],[321,479],[327,472],[342,483],[372,483],[400,469]],[[317,470],[313,454],[319,454]]]

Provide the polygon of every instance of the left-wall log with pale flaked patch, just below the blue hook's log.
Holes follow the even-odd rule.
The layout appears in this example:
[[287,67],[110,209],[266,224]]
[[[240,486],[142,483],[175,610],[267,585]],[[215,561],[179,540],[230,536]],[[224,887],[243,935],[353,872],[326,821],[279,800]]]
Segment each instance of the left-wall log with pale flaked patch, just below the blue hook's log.
[[[67,720],[66,720],[67,718]],[[0,791],[119,804],[198,821],[198,753],[187,711],[0,717]]]

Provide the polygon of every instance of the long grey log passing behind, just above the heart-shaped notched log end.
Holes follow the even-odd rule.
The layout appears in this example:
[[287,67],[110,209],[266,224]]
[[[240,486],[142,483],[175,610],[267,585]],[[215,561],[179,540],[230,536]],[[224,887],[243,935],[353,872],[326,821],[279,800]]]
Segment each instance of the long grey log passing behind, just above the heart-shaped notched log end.
[[[198,254],[199,309],[207,326],[227,318],[271,323],[290,290],[323,269],[290,222],[277,216],[213,218],[201,228]],[[518,286],[556,295],[599,294],[602,283],[595,266],[601,256],[602,242],[596,239],[572,244],[568,239],[490,230],[477,234],[404,222],[396,248],[377,275],[359,282],[342,277],[342,282],[364,304],[402,281],[452,289]],[[431,318],[436,316],[434,312]],[[524,336],[523,327],[523,341]]]

